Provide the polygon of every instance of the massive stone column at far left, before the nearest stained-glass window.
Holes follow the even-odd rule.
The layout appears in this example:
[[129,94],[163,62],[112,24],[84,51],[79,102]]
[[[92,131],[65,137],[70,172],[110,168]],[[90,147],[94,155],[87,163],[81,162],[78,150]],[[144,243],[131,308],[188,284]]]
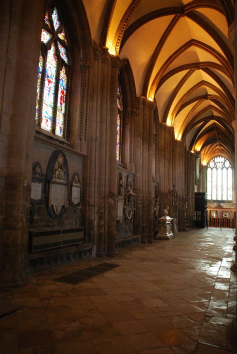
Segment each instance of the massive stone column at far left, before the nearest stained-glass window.
[[0,287],[6,289],[24,282],[27,267],[42,2],[3,1],[0,12]]

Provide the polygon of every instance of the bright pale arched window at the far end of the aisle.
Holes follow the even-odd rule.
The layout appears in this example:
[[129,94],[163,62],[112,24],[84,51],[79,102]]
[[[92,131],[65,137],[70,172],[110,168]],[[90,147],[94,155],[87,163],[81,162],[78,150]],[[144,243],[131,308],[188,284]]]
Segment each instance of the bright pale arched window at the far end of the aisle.
[[207,166],[207,198],[232,200],[232,174],[232,166],[227,158],[214,157]]

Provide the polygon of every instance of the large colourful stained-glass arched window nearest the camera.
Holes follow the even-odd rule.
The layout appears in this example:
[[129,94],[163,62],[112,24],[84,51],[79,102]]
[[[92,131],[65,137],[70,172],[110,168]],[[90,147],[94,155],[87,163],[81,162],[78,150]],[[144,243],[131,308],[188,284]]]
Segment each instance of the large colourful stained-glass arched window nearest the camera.
[[56,135],[66,135],[70,55],[58,10],[46,11],[38,64],[36,124]]

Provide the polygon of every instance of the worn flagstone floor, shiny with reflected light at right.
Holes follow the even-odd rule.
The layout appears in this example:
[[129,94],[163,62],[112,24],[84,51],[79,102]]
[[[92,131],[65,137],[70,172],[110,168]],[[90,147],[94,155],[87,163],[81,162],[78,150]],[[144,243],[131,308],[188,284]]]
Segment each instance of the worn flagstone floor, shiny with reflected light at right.
[[[1,295],[23,308],[0,319],[1,354],[217,354],[236,315],[234,232],[192,229],[37,273]],[[119,264],[78,284],[59,276]]]

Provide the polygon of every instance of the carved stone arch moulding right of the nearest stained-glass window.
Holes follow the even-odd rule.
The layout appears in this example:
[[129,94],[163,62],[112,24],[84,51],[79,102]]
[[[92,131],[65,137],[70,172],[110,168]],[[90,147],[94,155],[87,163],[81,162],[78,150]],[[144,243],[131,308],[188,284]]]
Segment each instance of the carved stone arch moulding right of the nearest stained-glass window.
[[45,11],[53,6],[56,6],[63,16],[71,45],[69,125],[66,138],[71,147],[85,152],[92,65],[92,39],[89,23],[82,0],[48,0]]

